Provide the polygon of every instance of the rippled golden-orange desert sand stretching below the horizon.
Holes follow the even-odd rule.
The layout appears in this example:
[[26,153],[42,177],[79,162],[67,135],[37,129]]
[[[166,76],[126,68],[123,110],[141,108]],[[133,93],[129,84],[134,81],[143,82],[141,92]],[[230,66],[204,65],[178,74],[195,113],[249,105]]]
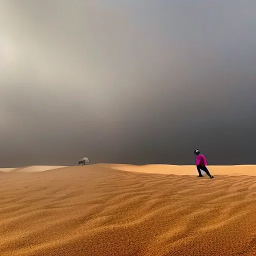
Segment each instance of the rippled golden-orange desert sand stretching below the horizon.
[[1,256],[256,255],[254,165],[0,170]]

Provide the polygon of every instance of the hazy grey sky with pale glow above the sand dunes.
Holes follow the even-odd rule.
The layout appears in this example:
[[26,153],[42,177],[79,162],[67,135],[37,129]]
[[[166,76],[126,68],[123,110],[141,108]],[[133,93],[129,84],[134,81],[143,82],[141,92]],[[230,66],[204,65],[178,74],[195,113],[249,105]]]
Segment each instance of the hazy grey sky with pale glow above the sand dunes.
[[255,0],[0,0],[0,166],[256,163]]

